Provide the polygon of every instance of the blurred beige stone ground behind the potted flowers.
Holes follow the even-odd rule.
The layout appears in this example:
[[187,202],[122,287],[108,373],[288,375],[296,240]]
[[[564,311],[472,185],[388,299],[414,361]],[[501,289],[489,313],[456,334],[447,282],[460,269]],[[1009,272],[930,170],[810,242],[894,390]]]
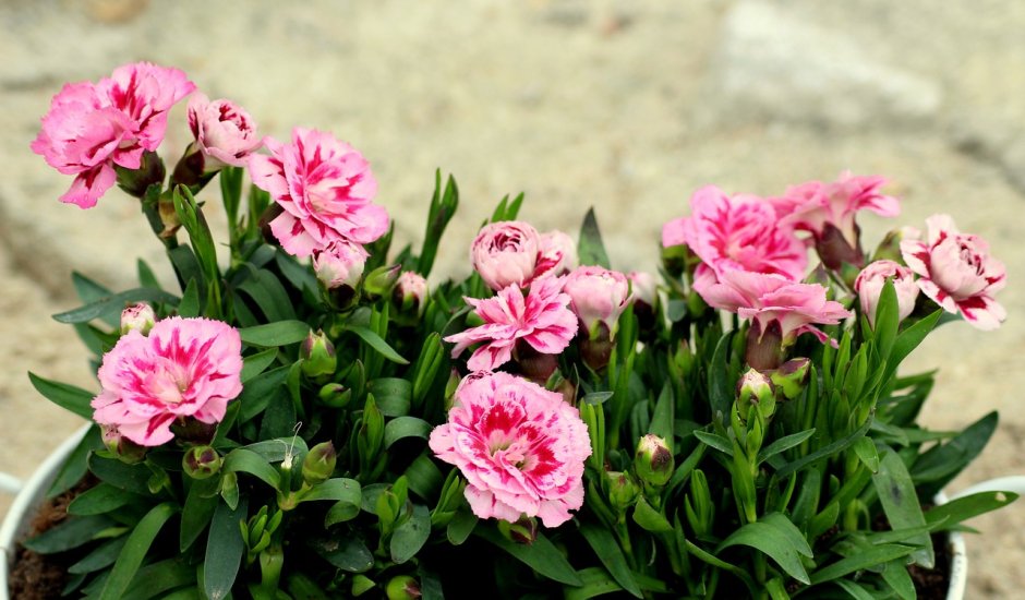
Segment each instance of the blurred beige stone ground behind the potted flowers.
[[[945,326],[911,369],[941,365],[926,422],[1000,430],[954,490],[1025,473],[1025,3],[1015,0],[467,0],[145,2],[0,0],[0,465],[28,476],[80,421],[25,375],[95,389],[71,328],[81,271],[129,285],[160,263],[136,205],[57,197],[71,178],[28,149],[64,82],[125,62],[176,65],[264,133],[334,132],[361,149],[399,240],[419,241],[435,168],[462,206],[443,269],[466,272],[475,226],[506,193],[521,216],[576,231],[595,206],[615,267],[654,268],[662,223],[706,183],[781,193],[841,170],[882,173],[900,224],[937,212],[988,239],[1008,265],[1008,323]],[[161,154],[189,142],[177,110]],[[870,247],[891,225],[861,219]],[[0,499],[5,511],[7,499]],[[1023,589],[1025,503],[973,523],[969,598]]]

